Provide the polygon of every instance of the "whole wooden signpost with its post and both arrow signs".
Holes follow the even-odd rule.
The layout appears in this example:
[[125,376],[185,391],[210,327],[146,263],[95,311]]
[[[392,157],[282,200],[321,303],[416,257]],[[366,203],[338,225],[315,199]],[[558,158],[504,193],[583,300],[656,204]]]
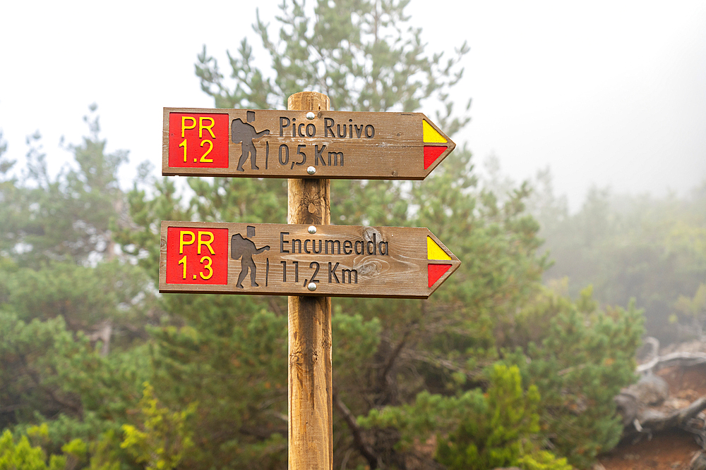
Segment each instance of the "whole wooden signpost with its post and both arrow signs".
[[290,470],[333,469],[330,297],[426,299],[460,261],[426,228],[330,225],[330,178],[423,180],[454,149],[421,113],[164,108],[162,174],[289,178],[287,225],[162,222],[160,292],[287,295]]

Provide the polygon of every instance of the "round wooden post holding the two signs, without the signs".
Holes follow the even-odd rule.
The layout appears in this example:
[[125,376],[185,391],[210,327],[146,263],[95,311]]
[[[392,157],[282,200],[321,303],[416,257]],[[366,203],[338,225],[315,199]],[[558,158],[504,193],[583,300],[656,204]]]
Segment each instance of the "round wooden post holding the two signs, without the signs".
[[[328,111],[325,94],[300,92],[289,111]],[[287,223],[331,223],[330,180],[287,181]],[[333,469],[331,298],[288,297],[289,470]]]

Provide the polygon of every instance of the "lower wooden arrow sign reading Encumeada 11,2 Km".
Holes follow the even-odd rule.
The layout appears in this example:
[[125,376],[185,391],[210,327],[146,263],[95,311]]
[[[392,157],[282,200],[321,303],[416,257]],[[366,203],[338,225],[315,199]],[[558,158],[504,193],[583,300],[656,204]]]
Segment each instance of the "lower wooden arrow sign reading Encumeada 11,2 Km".
[[426,299],[460,263],[426,228],[163,221],[160,292]]

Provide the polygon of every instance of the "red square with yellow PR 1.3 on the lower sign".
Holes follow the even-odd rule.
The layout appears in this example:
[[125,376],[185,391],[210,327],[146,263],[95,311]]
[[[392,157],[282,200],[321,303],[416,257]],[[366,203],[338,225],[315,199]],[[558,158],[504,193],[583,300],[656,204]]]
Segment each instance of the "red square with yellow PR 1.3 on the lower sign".
[[227,228],[167,227],[167,284],[227,283]]

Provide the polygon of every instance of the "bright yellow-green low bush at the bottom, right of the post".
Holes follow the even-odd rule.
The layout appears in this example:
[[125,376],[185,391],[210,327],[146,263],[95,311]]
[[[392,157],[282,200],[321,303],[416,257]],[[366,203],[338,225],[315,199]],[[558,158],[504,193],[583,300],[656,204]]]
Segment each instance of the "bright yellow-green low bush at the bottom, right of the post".
[[527,470],[570,470],[566,459],[542,450],[539,392],[522,388],[517,366],[496,364],[486,392],[456,397],[422,392],[414,404],[373,410],[358,419],[366,428],[396,428],[398,450],[413,450],[437,434],[436,460],[450,470],[520,466]]

